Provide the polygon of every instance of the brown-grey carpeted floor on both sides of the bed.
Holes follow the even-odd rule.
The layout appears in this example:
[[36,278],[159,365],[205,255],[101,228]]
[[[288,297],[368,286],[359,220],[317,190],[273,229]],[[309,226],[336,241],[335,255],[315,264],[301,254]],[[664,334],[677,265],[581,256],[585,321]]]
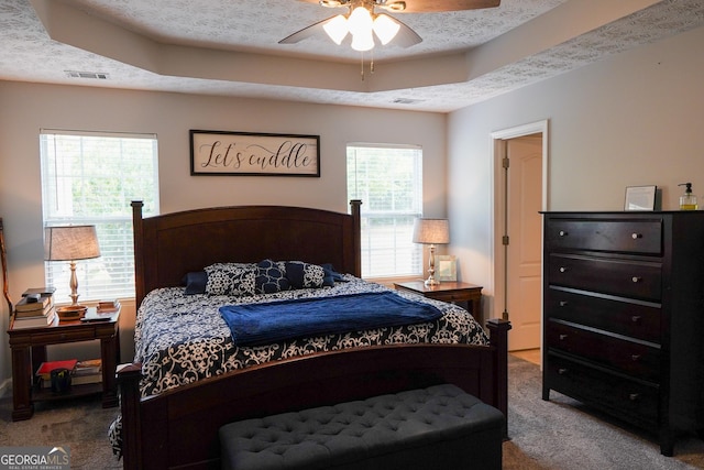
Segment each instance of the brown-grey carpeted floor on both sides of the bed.
[[[540,400],[538,365],[510,357],[506,470],[704,469],[704,441],[683,437],[675,456],[637,429],[626,429],[552,392]],[[32,419],[13,423],[12,400],[0,400],[0,447],[67,446],[72,469],[119,469],[108,442],[118,408],[103,409],[99,397],[37,404]],[[409,469],[410,470],[410,469]],[[413,469],[415,470],[415,469]],[[481,469],[479,469],[481,470]]]

